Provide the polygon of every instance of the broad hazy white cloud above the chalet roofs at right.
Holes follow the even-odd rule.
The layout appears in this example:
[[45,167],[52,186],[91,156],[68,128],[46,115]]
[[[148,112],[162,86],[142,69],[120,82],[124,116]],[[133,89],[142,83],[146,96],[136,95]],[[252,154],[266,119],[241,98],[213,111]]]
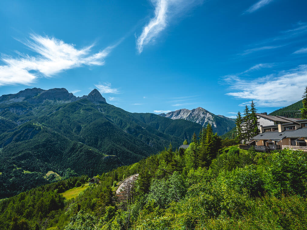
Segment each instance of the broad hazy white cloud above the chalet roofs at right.
[[[229,96],[254,100],[258,106],[262,107],[278,107],[301,100],[306,79],[307,65],[300,65],[295,69],[257,79],[243,79],[232,75],[228,76],[225,81],[233,91],[227,93]],[[241,105],[245,104],[244,102]]]

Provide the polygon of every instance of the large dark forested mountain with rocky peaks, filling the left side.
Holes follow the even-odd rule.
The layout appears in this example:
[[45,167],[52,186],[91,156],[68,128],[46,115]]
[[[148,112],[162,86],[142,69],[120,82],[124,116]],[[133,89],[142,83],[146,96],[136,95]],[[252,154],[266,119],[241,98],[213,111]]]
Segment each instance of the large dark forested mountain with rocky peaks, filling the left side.
[[[64,88],[0,97],[0,199],[61,176],[101,174],[191,140],[202,126],[153,113],[129,113],[98,90],[76,97]],[[26,173],[25,173],[26,172]]]

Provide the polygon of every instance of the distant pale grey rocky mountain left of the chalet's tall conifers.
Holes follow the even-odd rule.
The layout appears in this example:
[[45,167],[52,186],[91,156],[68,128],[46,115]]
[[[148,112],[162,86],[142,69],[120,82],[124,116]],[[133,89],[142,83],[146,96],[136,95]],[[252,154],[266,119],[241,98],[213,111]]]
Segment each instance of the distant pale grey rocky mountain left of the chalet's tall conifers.
[[178,109],[169,113],[159,114],[161,117],[167,117],[171,119],[184,119],[188,121],[196,122],[203,127],[210,124],[213,132],[217,132],[218,135],[223,135],[229,132],[235,127],[235,119],[224,117],[222,115],[215,115],[208,110],[198,107],[196,109]]

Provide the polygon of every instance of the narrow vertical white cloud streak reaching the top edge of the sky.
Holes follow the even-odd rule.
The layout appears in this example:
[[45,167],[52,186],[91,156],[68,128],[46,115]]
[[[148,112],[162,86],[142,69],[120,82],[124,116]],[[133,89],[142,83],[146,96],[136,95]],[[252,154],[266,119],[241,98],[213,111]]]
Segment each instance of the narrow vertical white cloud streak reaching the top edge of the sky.
[[142,53],[144,46],[157,38],[171,18],[182,12],[187,12],[202,0],[151,0],[151,2],[155,7],[154,17],[150,19],[143,28],[142,34],[137,38],[138,53]]

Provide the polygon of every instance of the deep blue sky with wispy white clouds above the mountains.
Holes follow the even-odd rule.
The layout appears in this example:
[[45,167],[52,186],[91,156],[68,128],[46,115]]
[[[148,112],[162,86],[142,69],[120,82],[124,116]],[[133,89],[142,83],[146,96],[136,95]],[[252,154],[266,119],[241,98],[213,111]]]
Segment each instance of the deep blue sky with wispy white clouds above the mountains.
[[97,88],[130,112],[270,112],[307,85],[307,2],[0,2],[0,95]]

